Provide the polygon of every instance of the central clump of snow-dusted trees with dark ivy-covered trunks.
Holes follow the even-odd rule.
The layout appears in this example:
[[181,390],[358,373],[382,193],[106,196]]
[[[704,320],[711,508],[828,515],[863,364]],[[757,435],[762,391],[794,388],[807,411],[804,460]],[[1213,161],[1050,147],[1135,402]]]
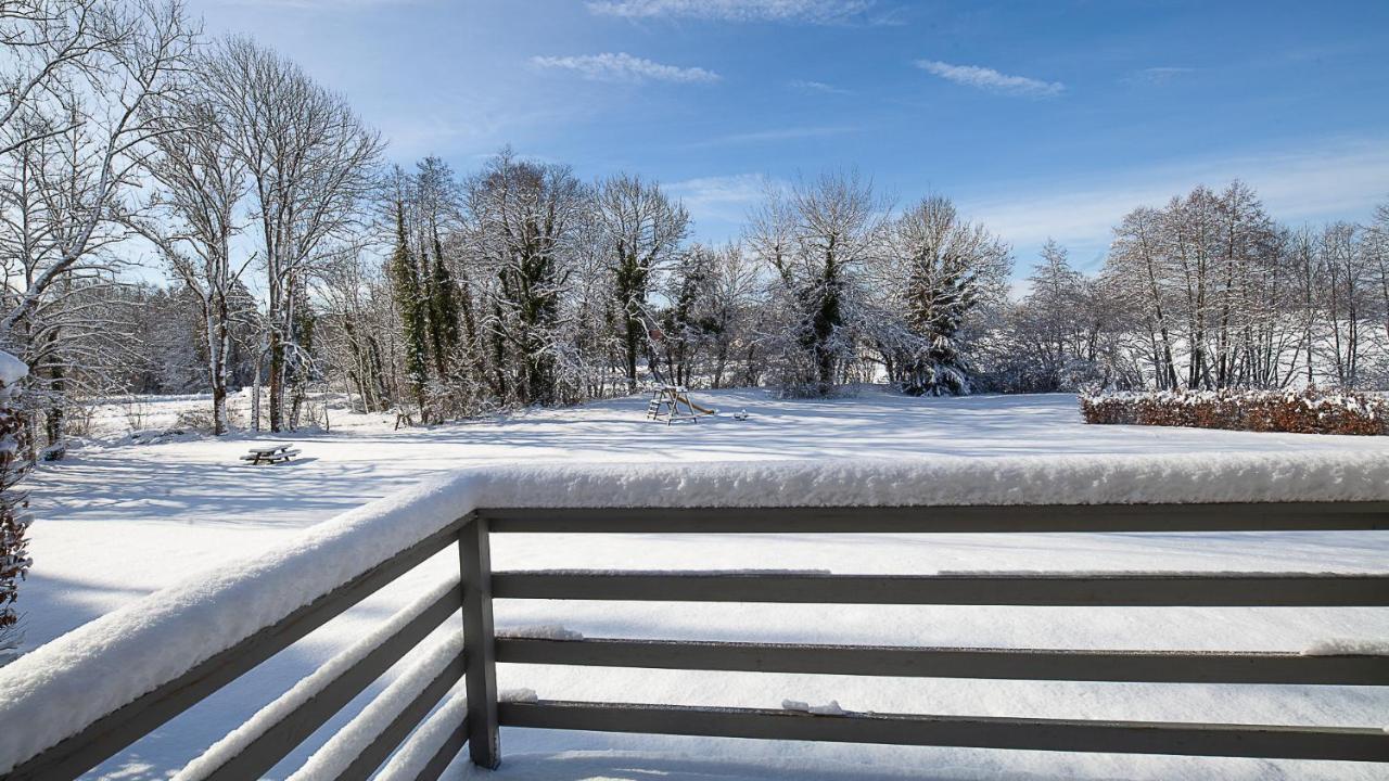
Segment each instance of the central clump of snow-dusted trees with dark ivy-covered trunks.
[[340,307],[321,313],[324,357],[363,409],[425,422],[653,379],[826,395],[886,370],[967,392],[961,334],[1011,268],[949,200],[899,213],[854,172],[768,188],[725,246],[689,240],[683,206],[638,175],[583,182],[504,150],[471,175],[425,158],[388,179],[390,252],[322,281]]

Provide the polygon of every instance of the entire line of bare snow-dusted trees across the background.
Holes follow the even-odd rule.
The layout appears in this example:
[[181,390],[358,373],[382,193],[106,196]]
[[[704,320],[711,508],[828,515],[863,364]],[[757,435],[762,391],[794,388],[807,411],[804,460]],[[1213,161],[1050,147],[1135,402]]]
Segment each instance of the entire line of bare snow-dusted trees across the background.
[[[26,441],[89,399],[206,392],[217,434],[315,392],[438,422],[649,381],[829,395],[1381,386],[1389,207],[1278,225],[1242,183],[1129,213],[1099,274],[856,171],[770,183],[738,240],[631,172],[385,143],[342,96],[169,0],[0,7],[0,349]],[[264,409],[263,409],[264,403]]]

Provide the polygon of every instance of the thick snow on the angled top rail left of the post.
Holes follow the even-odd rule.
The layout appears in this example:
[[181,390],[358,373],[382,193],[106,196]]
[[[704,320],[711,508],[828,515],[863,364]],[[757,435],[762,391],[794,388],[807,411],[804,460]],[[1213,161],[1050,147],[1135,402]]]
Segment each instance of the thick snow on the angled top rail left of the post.
[[[281,550],[204,573],[0,670],[0,771],[283,618],[467,513],[469,479],[381,499]],[[461,507],[461,509],[460,509]]]

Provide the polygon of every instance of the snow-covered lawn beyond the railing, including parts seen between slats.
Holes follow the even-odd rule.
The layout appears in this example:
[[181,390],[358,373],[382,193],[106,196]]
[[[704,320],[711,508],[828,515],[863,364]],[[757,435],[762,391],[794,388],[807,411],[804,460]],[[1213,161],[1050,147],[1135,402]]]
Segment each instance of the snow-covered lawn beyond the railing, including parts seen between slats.
[[[903,399],[876,389],[831,402],[758,390],[697,395],[721,410],[697,425],[643,420],[644,399],[532,411],[489,422],[393,431],[390,418],[333,411],[331,434],[285,438],[303,456],[275,467],[238,460],[247,436],[117,445],[126,428],[164,428],[196,397],[107,404],[100,441],[32,481],[36,560],[22,591],[35,646],[213,566],[283,545],[304,527],[425,475],[474,464],[636,461],[679,472],[706,460],[921,459],[1058,453],[1190,454],[1363,450],[1379,438],[1086,427],[1072,396]],[[269,441],[271,438],[264,438]],[[497,535],[497,568],[820,568],[1385,571],[1389,534],[1214,535]],[[163,778],[293,681],[456,571],[442,554],[263,670],[133,746],[113,777]],[[499,602],[501,628],[563,625],[588,636],[903,645],[1300,650],[1328,638],[1389,639],[1378,609],[854,607]],[[410,664],[411,660],[403,663]],[[1138,685],[624,671],[503,666],[503,688],[547,699],[606,699],[847,710],[1382,725],[1389,692],[1354,687]],[[375,689],[379,691],[379,689]],[[343,727],[368,695],[296,752],[285,777]],[[661,755],[661,756],[653,756]],[[497,778],[1376,778],[1345,763],[1051,755],[975,749],[503,731]],[[467,767],[456,768],[468,773]]]

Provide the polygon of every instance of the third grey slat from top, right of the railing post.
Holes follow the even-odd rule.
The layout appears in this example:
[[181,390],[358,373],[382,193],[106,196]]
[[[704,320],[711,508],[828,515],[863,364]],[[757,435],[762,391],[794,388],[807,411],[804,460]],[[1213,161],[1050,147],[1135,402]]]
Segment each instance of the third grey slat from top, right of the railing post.
[[1389,656],[1272,652],[900,648],[499,636],[497,661],[903,678],[1389,685]]

